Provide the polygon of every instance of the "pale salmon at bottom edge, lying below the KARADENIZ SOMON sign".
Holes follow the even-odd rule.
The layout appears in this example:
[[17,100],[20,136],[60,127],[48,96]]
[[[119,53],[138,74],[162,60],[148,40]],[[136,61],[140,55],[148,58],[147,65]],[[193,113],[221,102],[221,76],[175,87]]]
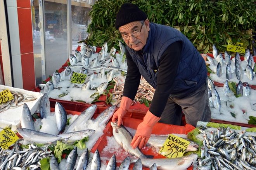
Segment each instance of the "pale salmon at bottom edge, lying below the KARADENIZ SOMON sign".
[[[140,160],[145,167],[151,167],[152,164],[156,163],[158,170],[186,170],[197,160],[197,157],[197,154],[193,153],[179,158],[140,158]],[[135,162],[135,160],[132,160],[131,162]]]

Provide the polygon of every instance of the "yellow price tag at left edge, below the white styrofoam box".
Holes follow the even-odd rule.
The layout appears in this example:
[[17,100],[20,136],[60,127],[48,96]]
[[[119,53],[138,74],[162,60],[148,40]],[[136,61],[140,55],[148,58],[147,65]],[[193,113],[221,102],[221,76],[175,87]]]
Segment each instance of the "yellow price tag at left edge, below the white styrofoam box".
[[9,128],[4,128],[0,132],[0,146],[3,149],[8,148],[10,145],[14,144],[19,137]]

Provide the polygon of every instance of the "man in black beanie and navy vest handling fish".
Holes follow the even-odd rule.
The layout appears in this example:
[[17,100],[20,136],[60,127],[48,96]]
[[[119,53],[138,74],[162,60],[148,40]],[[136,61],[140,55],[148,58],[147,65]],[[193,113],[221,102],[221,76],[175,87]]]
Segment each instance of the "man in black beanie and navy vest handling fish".
[[136,5],[125,3],[116,15],[116,29],[126,43],[127,75],[120,108],[112,121],[122,118],[131,106],[141,75],[156,89],[149,111],[137,127],[131,146],[142,148],[152,127],[159,121],[180,125],[209,121],[207,70],[204,59],[181,32],[169,26],[149,23]]

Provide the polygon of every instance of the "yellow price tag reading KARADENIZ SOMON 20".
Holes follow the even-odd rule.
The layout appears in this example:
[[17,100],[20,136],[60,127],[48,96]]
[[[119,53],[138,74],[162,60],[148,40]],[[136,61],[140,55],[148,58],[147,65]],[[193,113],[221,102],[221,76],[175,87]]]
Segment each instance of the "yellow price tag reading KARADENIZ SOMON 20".
[[164,145],[160,149],[159,153],[167,158],[178,158],[182,157],[185,150],[189,146],[190,141],[183,138],[170,134]]

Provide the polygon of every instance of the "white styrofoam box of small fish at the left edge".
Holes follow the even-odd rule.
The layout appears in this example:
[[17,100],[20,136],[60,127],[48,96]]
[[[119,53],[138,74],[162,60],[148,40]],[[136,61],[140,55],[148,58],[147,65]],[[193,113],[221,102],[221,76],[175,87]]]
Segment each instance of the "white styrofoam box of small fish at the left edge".
[[[36,110],[38,109],[38,105],[40,103],[41,97],[43,96],[42,93],[38,92],[32,92],[28,90],[24,90],[21,88],[14,88],[14,87],[9,87],[5,85],[0,86],[0,90],[13,90],[16,92],[20,92],[23,94],[28,94],[34,97],[37,97],[36,100],[29,101],[29,102],[20,102],[18,105],[26,103],[31,111],[31,114],[34,114]],[[21,112],[22,112],[23,105],[13,108],[13,109],[8,109],[5,111],[0,111],[0,127],[5,128],[6,126],[9,126],[10,124],[12,125],[12,131],[14,131],[16,128],[21,127],[20,119],[21,119]]]

